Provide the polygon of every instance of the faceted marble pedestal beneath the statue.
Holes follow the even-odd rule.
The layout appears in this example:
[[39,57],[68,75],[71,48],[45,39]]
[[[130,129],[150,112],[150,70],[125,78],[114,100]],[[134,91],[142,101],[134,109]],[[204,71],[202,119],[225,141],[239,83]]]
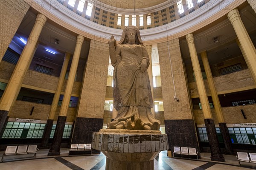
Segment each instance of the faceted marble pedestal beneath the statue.
[[107,157],[106,170],[154,170],[154,158],[169,144],[158,130],[102,129],[93,133],[92,148]]

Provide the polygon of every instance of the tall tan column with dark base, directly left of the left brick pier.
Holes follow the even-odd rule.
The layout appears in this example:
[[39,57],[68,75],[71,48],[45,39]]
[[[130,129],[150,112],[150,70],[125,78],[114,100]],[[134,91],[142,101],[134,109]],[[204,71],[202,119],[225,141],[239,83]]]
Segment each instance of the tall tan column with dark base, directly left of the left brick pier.
[[65,122],[67,119],[67,110],[70,103],[71,92],[72,92],[73,84],[75,81],[77,66],[78,66],[83,42],[84,42],[84,37],[81,35],[78,35],[76,39],[76,48],[74,51],[74,55],[73,55],[73,59],[70,67],[70,73],[68,75],[67,85],[66,85],[64,97],[61,104],[61,110],[58,116],[57,125],[55,129],[54,137],[53,137],[53,142],[49,150],[48,156],[60,155],[61,139],[63,136]]

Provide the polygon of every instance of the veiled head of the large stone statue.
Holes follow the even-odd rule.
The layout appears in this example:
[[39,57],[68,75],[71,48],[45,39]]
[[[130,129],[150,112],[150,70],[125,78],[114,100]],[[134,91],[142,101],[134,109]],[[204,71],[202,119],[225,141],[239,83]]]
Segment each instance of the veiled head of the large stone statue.
[[137,26],[127,26],[123,29],[121,40],[118,44],[127,44],[130,38],[135,38],[135,44],[143,45],[140,29]]

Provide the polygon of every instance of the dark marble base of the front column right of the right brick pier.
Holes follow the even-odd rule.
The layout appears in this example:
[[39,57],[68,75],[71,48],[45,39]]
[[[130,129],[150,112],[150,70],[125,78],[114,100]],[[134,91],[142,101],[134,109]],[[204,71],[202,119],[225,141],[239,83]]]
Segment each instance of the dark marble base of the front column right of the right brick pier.
[[211,160],[225,162],[218,143],[217,132],[213,119],[204,119],[209,145],[211,149]]

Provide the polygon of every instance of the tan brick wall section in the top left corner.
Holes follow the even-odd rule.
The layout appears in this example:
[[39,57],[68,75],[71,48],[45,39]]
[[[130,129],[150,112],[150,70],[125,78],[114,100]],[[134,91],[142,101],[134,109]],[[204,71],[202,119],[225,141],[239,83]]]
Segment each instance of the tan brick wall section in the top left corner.
[[0,0],[0,62],[29,7],[23,0]]

